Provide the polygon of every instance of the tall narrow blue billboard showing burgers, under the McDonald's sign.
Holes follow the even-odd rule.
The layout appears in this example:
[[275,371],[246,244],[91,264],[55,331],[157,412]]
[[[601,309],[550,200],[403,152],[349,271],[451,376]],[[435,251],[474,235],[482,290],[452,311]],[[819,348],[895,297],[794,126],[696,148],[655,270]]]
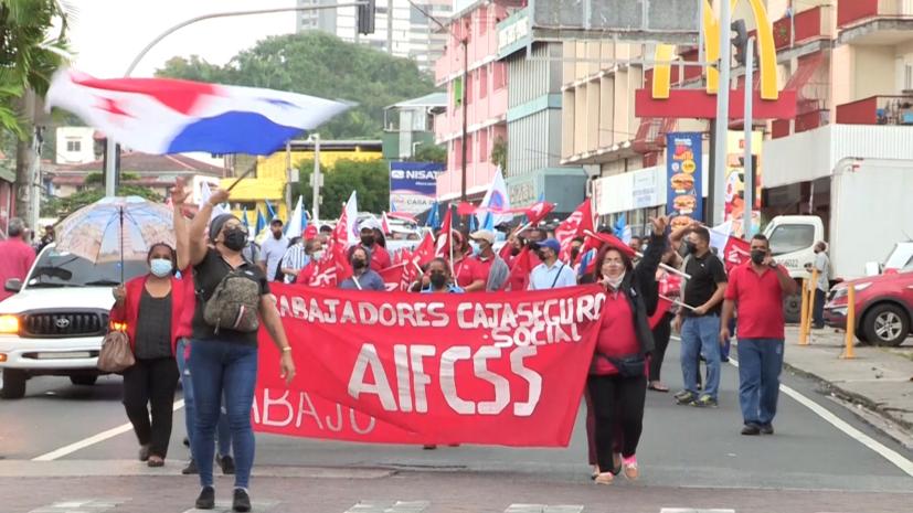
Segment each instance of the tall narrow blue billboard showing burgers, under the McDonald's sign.
[[703,163],[700,132],[669,132],[666,135],[666,212],[671,216],[672,229],[703,221]]

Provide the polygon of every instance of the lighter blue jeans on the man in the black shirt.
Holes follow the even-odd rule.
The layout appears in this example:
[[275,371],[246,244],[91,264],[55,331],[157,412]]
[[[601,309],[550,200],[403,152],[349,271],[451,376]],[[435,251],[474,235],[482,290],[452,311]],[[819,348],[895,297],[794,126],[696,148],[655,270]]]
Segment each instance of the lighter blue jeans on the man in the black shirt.
[[698,393],[699,359],[707,361],[703,394],[716,399],[720,389],[720,317],[687,317],[681,324],[681,375],[684,389]]

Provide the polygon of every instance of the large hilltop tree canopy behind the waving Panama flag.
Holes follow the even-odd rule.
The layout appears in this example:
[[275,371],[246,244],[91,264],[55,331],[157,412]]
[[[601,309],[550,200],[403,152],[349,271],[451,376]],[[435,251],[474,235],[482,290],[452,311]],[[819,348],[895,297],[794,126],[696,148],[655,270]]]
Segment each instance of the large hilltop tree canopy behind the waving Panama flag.
[[265,39],[224,66],[173,57],[156,75],[357,103],[318,129],[323,139],[379,139],[384,107],[435,90],[415,62],[319,31]]

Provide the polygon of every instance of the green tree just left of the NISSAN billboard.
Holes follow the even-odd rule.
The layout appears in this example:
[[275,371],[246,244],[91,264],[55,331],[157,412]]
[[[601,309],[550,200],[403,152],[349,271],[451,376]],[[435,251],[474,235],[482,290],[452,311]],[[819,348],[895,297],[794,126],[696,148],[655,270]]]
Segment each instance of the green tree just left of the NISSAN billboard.
[[[320,174],[323,177],[323,186],[320,196],[320,217],[332,220],[339,217],[342,204],[358,191],[358,209],[361,212],[379,213],[385,211],[390,204],[390,168],[384,160],[355,161],[338,160],[333,167],[323,167]],[[314,160],[298,163],[301,182],[298,194],[304,196],[305,205],[314,204],[314,189],[309,185],[314,172]]]

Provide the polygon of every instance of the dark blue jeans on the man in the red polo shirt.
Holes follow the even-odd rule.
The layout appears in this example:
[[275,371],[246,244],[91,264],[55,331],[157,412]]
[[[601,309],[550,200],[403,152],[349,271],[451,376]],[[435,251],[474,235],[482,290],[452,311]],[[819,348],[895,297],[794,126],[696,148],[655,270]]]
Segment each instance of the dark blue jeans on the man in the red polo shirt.
[[739,338],[739,404],[745,424],[774,421],[783,370],[783,339]]

